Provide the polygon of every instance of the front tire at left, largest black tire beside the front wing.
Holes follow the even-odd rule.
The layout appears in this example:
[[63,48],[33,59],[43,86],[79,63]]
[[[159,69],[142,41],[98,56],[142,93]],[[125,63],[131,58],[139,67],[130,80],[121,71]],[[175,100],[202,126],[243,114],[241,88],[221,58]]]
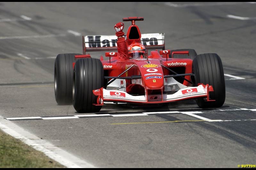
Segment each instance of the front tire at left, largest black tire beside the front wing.
[[99,112],[93,90],[104,87],[104,70],[99,59],[82,58],[76,61],[73,76],[73,106],[79,113]]

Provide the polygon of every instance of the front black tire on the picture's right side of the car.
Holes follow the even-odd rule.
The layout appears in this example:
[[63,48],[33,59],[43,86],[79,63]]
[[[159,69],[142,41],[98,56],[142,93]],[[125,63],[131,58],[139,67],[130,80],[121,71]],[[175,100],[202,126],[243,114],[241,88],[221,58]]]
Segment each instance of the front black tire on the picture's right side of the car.
[[212,85],[214,92],[209,92],[211,100],[205,101],[203,98],[197,99],[196,103],[201,108],[221,107],[226,98],[224,71],[221,59],[217,54],[196,55],[193,60],[193,72],[195,81],[204,85]]

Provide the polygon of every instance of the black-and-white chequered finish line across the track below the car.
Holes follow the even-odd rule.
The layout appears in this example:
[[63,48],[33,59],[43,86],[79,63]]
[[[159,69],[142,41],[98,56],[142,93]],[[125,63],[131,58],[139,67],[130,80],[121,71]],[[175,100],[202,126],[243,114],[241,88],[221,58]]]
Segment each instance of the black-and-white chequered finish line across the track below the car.
[[[202,117],[197,114],[207,114],[209,111],[256,111],[256,109],[247,109],[247,108],[241,108],[241,109],[213,109],[213,110],[207,110],[207,111],[187,111],[187,112],[180,112],[180,111],[166,111],[166,112],[142,112],[142,113],[122,113],[122,114],[91,114],[91,115],[67,115],[67,116],[36,116],[36,117],[9,117],[4,118],[6,120],[11,121],[18,121],[18,120],[60,120],[60,119],[77,119],[77,118],[95,118],[95,117],[127,117],[127,116],[149,116],[149,115],[157,115],[157,114],[175,114],[180,113],[184,115],[189,115],[196,117],[198,119],[208,121],[208,122],[216,122],[217,120],[211,120],[205,117]],[[254,118],[253,118],[254,119]],[[235,120],[218,120],[221,121],[235,121]]]

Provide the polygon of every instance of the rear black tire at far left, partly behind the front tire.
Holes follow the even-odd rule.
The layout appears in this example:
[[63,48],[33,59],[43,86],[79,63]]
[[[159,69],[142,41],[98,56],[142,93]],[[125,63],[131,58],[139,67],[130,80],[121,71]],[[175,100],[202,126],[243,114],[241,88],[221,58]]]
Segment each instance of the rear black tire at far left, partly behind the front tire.
[[75,55],[59,54],[54,63],[55,100],[59,105],[72,104],[73,63]]

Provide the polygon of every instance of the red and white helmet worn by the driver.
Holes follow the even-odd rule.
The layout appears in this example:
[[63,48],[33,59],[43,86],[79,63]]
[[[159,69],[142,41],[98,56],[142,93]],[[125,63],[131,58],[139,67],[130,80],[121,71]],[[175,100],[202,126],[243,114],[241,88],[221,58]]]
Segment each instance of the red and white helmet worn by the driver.
[[145,47],[144,45],[135,42],[128,47],[128,56],[129,58],[139,58],[141,55],[145,57]]

